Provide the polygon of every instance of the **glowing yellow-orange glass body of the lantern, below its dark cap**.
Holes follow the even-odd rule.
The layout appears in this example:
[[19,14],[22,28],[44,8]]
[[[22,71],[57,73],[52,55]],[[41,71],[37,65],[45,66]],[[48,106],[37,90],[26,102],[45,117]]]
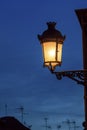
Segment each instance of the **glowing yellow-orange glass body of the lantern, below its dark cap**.
[[43,56],[44,63],[46,66],[55,67],[61,64],[62,57],[62,44],[56,42],[44,42],[43,46]]

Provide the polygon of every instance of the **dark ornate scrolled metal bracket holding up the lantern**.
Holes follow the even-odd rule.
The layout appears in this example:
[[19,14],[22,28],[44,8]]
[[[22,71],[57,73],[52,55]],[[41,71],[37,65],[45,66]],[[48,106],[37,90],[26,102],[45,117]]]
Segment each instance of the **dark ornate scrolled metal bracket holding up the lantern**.
[[53,72],[58,80],[61,80],[63,77],[68,77],[78,84],[87,85],[87,70],[74,70],[74,71],[62,71],[62,72]]

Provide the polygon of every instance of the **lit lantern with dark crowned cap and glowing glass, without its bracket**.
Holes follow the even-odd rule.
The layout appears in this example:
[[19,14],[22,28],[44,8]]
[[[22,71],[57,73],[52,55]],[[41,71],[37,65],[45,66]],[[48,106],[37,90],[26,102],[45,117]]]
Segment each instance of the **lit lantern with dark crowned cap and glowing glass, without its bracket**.
[[62,63],[62,46],[65,36],[55,29],[55,22],[48,22],[48,29],[38,35],[38,39],[42,45],[44,66],[54,71],[56,66]]

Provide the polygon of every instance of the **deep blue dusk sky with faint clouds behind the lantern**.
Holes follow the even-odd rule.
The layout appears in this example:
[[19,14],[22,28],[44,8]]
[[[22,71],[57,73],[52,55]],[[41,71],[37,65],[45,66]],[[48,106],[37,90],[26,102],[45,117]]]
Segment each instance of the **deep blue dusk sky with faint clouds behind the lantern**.
[[47,29],[46,22],[56,22],[66,35],[57,70],[83,69],[82,30],[75,9],[84,8],[87,0],[0,0],[1,117],[14,116],[32,130],[45,130],[45,118],[47,130],[58,125],[67,130],[68,120],[82,130],[84,88],[69,78],[59,81],[43,68],[37,34]]

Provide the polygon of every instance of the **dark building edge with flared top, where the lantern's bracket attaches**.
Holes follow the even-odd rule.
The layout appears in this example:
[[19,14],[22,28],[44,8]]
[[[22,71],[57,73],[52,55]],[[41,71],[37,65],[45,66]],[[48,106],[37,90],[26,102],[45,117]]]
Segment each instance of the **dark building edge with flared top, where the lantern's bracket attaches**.
[[[83,40],[83,68],[87,69],[87,9],[76,10],[81,28]],[[87,130],[87,75],[84,74],[84,110],[85,121],[83,123],[84,130]]]

